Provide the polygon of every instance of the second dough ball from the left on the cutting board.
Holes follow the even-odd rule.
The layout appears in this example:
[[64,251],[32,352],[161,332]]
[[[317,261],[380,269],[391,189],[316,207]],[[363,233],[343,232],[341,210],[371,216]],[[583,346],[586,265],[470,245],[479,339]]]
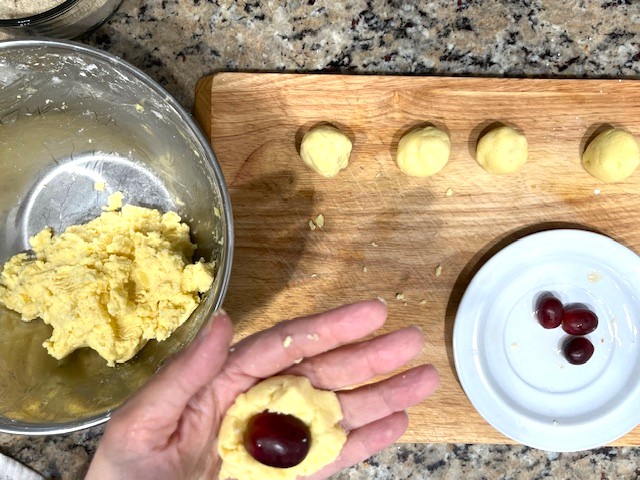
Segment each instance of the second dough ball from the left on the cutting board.
[[400,139],[396,162],[412,177],[435,175],[449,161],[451,139],[436,127],[413,130]]

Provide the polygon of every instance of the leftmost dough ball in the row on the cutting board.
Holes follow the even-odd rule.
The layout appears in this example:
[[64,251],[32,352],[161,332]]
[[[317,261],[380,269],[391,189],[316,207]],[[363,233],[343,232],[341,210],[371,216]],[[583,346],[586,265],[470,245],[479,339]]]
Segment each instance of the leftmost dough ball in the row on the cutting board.
[[322,125],[309,130],[302,138],[302,161],[324,177],[335,177],[349,164],[351,141],[337,128]]

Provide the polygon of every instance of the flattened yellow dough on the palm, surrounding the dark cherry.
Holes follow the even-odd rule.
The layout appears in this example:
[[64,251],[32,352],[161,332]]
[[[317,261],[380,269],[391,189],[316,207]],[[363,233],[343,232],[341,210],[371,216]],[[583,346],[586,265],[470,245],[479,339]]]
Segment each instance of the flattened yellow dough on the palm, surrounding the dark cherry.
[[[277,468],[254,459],[244,446],[249,420],[264,411],[293,415],[311,432],[309,453],[293,467]],[[342,409],[334,392],[318,390],[306,377],[271,377],[241,394],[227,410],[218,435],[222,458],[220,480],[295,480],[333,462],[347,434],[340,425]]]

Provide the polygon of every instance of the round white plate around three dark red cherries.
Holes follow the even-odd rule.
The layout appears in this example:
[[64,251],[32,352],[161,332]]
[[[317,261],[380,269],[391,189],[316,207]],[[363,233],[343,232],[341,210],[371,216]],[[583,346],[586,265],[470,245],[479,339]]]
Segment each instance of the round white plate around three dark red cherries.
[[[543,292],[598,315],[587,363],[568,363],[565,332],[538,323]],[[638,255],[596,233],[536,233],[493,256],[469,284],[453,332],[458,377],[485,420],[519,443],[599,447],[640,423],[639,325]]]

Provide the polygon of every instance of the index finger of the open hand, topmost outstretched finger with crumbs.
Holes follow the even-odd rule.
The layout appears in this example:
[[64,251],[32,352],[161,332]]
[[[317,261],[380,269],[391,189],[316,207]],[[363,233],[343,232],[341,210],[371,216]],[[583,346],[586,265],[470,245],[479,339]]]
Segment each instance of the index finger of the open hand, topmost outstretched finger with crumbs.
[[267,378],[305,357],[365,337],[386,318],[387,306],[382,300],[367,300],[285,321],[238,342],[226,368],[253,379]]

